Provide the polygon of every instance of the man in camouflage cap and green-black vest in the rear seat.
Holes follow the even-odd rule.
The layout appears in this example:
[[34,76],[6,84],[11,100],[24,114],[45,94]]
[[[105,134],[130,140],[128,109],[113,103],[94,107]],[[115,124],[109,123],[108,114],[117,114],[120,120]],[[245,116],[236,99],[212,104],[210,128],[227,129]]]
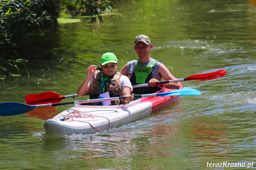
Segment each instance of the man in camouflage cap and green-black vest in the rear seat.
[[[135,38],[134,50],[139,58],[129,61],[120,70],[120,73],[125,76],[130,76],[132,85],[148,83],[150,87],[134,88],[133,93],[149,94],[160,90],[160,86],[155,83],[164,80],[175,80],[166,66],[160,61],[150,58],[150,50],[153,44],[150,43],[150,38],[146,35],[138,35]],[[168,89],[179,89],[179,83],[166,83],[163,87]]]

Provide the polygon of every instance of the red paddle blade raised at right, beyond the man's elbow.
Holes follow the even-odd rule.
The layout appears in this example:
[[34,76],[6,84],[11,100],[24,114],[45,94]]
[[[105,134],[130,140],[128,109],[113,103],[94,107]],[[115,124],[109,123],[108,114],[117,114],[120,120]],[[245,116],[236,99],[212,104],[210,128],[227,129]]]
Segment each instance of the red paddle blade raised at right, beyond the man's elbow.
[[222,76],[225,76],[227,73],[225,70],[219,70],[216,72],[212,72],[212,73],[206,73],[206,74],[201,74],[201,75],[193,75],[187,78],[184,78],[184,81],[187,80],[198,80],[198,81],[202,81],[202,80],[212,80],[212,79],[216,79]]

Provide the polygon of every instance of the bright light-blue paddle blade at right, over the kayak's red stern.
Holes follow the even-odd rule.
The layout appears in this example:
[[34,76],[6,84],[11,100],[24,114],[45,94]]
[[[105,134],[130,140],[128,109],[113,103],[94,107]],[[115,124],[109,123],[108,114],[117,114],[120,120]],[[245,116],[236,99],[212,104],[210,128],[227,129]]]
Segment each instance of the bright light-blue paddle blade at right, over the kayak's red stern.
[[199,90],[193,88],[183,88],[178,90],[173,90],[170,92],[157,93],[158,96],[173,96],[173,95],[201,95]]

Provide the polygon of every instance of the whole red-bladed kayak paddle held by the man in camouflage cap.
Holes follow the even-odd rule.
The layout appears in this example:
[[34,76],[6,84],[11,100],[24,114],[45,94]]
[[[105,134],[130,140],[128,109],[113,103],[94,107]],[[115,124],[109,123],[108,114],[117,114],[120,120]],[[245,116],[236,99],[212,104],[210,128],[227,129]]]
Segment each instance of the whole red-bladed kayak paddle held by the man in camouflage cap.
[[[161,84],[170,83],[170,82],[188,81],[188,80],[199,80],[199,81],[212,80],[212,79],[216,79],[216,78],[219,78],[219,77],[222,77],[225,75],[226,75],[225,70],[219,70],[219,71],[212,72],[212,73],[193,75],[193,76],[190,76],[187,78],[182,78],[182,79],[160,81],[160,82],[157,82],[156,85],[161,85]],[[148,83],[141,84],[141,85],[133,85],[132,87],[139,88],[139,87],[146,87],[146,86],[148,86]],[[36,104],[47,104],[49,102],[59,103],[59,102],[61,102],[62,99],[72,98],[72,97],[73,98],[77,97],[77,94],[66,95],[66,96],[61,96],[55,92],[44,92],[44,93],[30,94],[30,95],[26,96],[26,104],[36,105]]]

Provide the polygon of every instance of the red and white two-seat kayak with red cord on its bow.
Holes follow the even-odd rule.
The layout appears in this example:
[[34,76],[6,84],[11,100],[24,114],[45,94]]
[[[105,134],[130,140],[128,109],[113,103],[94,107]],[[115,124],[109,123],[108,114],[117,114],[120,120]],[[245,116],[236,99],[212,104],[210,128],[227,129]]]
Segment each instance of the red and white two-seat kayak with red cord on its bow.
[[[179,82],[180,88],[182,84]],[[158,93],[170,92],[163,88]],[[139,98],[125,105],[86,106],[76,104],[44,123],[47,135],[93,134],[119,127],[177,102],[180,96]]]

